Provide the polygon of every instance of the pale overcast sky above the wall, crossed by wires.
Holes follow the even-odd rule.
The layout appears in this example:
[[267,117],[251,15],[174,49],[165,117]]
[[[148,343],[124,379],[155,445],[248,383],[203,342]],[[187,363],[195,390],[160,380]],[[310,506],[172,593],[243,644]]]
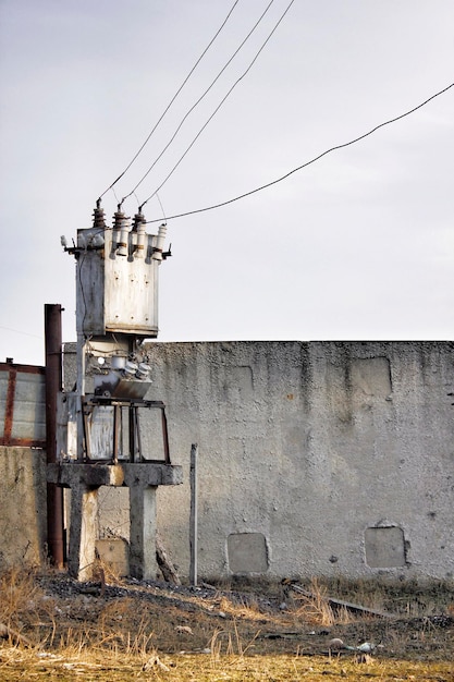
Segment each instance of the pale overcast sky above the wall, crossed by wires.
[[[137,160],[109,224],[269,4],[240,0]],[[44,363],[44,305],[75,339],[74,259],[233,0],[0,0],[0,362]],[[289,5],[244,48],[124,204],[161,185]],[[452,0],[295,0],[148,220],[226,202],[454,82]],[[161,341],[454,338],[454,87],[226,207],[169,220]],[[159,222],[157,223],[159,226]],[[157,228],[156,228],[157,229]],[[155,227],[149,226],[149,230]]]

